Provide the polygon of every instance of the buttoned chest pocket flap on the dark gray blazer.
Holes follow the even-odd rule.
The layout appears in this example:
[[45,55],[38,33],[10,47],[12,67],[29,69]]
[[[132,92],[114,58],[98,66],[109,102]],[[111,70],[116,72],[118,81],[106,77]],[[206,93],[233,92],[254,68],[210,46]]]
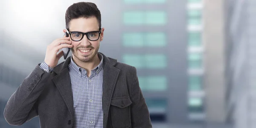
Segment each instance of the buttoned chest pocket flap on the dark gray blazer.
[[126,108],[131,105],[130,97],[120,97],[111,100],[111,105],[116,106],[118,108]]

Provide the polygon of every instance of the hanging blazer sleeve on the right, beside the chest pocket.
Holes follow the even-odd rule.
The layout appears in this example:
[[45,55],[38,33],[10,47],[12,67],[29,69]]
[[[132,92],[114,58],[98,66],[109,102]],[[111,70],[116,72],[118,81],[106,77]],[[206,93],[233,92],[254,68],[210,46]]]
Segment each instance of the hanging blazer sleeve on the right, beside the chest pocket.
[[134,67],[134,79],[131,87],[131,125],[132,128],[152,128],[148,106],[139,86],[137,71]]

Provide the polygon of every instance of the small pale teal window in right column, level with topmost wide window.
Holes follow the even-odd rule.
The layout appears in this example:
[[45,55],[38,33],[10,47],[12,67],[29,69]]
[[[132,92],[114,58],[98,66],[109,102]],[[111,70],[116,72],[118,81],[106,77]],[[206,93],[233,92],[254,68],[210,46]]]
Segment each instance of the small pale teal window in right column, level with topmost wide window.
[[189,25],[201,25],[202,12],[199,9],[188,10],[188,24]]

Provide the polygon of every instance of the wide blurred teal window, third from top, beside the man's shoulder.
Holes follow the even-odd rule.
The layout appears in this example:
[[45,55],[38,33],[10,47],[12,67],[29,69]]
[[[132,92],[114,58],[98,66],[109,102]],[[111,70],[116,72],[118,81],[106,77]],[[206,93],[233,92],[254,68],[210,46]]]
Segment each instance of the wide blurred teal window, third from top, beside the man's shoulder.
[[164,69],[167,67],[167,58],[164,54],[125,54],[123,62],[138,69]]

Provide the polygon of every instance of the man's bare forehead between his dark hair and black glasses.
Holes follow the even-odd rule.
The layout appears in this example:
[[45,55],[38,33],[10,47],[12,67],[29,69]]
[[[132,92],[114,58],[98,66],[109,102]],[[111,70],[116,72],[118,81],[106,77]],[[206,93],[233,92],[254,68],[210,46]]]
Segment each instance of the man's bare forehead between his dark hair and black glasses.
[[69,26],[71,31],[79,32],[89,32],[89,31],[99,31],[99,23],[96,17],[80,17],[77,19],[70,20]]

